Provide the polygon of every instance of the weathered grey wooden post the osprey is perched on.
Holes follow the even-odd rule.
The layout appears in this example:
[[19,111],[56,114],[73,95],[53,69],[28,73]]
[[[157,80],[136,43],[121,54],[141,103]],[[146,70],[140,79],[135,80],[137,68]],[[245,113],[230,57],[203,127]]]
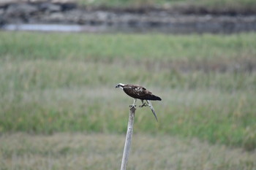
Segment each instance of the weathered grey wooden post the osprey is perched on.
[[121,170],[127,169],[127,162],[128,162],[128,158],[129,158],[129,147],[131,146],[131,143],[132,143],[132,130],[133,130],[133,123],[135,120],[135,110],[136,110],[135,107],[131,107],[131,109],[129,109],[127,137],[126,137],[125,143],[124,143],[124,152],[123,152],[123,158],[121,161]]

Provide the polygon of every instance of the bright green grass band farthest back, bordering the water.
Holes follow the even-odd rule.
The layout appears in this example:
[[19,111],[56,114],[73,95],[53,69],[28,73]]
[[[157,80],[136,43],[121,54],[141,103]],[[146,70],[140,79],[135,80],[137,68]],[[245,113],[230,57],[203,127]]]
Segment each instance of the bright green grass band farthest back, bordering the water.
[[256,54],[256,34],[29,34],[2,32],[0,59],[233,60]]

